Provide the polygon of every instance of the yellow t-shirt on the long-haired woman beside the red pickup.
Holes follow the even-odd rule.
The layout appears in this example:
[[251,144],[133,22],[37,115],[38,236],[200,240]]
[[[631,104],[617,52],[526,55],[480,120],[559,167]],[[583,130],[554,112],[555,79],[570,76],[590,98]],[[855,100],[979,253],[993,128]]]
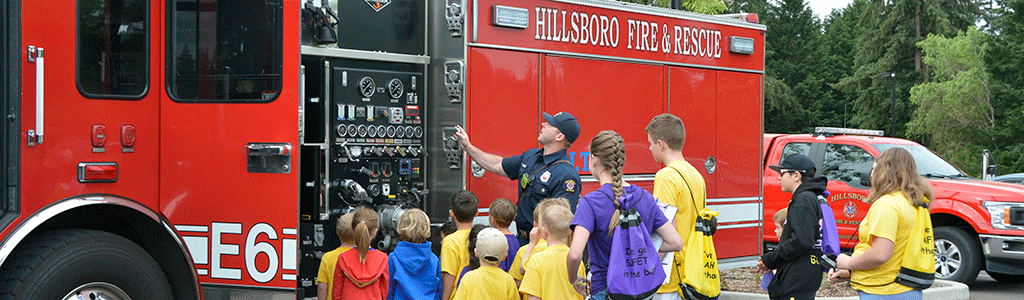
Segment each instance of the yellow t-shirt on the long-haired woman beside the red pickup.
[[893,255],[882,265],[851,272],[850,285],[854,290],[874,295],[893,295],[912,290],[893,283],[903,262],[903,252],[909,244],[916,211],[903,192],[891,192],[879,198],[860,223],[860,242],[853,249],[853,256],[871,248],[871,239],[885,238],[895,244]]

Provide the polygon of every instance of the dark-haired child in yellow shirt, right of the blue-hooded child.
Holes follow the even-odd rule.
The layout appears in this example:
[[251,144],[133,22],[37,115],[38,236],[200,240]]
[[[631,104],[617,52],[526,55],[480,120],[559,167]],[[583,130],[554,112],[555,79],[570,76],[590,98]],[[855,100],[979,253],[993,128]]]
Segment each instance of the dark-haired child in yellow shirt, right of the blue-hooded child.
[[456,231],[441,241],[442,300],[455,298],[455,283],[459,281],[462,269],[469,265],[469,229],[473,227],[479,205],[480,201],[472,191],[460,190],[452,196],[449,215],[455,221]]

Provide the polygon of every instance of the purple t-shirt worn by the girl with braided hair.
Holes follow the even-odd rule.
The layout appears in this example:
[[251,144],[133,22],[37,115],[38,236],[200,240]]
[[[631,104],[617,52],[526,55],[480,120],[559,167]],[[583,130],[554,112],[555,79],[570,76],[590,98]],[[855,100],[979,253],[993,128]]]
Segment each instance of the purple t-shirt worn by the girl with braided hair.
[[[662,227],[669,219],[657,207],[654,197],[636,185],[623,187],[623,196],[626,201],[633,204],[640,213],[643,225],[654,232],[655,228]],[[587,241],[588,253],[590,253],[591,293],[596,293],[608,289],[608,255],[611,254],[611,237],[608,237],[608,224],[611,223],[611,214],[615,205],[611,202],[614,197],[611,191],[611,184],[606,183],[600,188],[580,198],[577,205],[575,216],[572,217],[570,227],[575,230],[575,226],[583,226],[590,231],[590,240]]]

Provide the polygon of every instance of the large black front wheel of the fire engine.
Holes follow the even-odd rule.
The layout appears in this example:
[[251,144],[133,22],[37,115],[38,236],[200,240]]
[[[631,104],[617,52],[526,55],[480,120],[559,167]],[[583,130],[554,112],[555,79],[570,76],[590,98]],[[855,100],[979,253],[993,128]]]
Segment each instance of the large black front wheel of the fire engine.
[[30,239],[0,270],[0,299],[173,298],[157,262],[125,238],[60,229]]

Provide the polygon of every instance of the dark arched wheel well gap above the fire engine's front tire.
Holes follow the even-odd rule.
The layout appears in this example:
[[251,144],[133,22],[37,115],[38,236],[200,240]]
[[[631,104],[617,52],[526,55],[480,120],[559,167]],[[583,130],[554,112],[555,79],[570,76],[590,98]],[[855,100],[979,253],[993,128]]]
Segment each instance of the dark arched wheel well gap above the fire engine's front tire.
[[[132,208],[96,204],[77,207],[61,212],[36,227],[31,235],[43,234],[49,229],[83,228],[108,231],[132,241],[142,247],[164,271],[174,299],[199,300],[194,266],[187,253],[182,253],[176,237],[168,233],[161,222]],[[23,245],[19,245],[20,248]],[[20,251],[15,249],[14,252]]]

